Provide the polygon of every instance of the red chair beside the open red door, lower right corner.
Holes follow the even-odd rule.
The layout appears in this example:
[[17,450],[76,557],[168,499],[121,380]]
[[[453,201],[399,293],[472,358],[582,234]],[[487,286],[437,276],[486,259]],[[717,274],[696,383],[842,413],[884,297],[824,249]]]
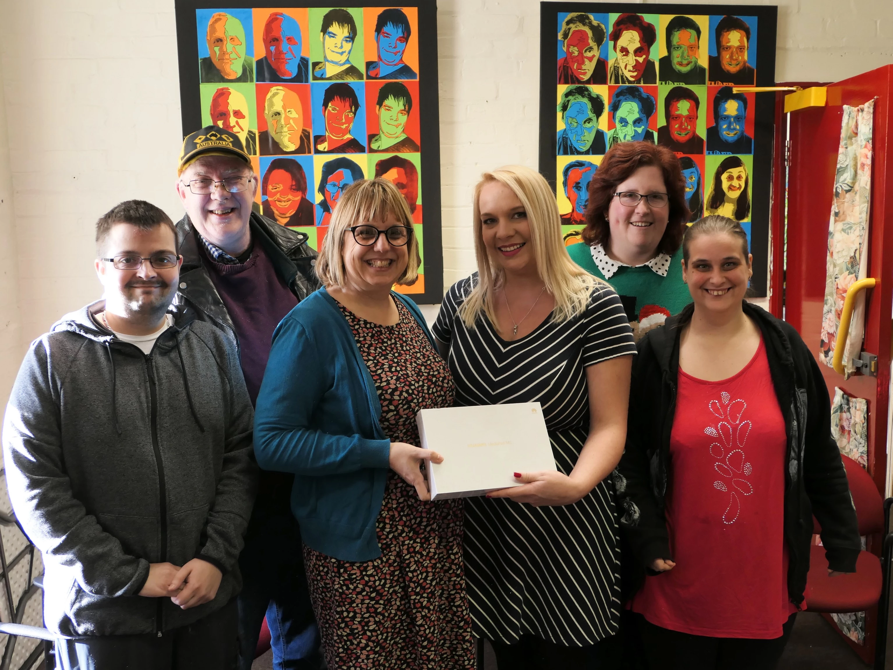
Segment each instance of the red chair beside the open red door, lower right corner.
[[[877,636],[874,647],[874,667],[883,670],[887,651],[887,617],[889,610],[889,567],[893,533],[888,533],[889,508],[893,498],[884,501],[869,473],[848,456],[840,456],[847,469],[850,495],[855,505],[860,535],[882,533],[884,537],[880,559],[870,551],[859,552],[855,573],[828,575],[825,548],[810,548],[807,612],[864,612],[878,606]],[[822,532],[813,519],[814,532]]]

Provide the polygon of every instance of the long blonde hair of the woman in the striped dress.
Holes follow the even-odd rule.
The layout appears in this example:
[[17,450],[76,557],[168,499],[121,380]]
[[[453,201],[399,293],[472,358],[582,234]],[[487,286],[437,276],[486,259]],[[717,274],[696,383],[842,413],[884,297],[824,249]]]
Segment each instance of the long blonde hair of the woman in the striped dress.
[[563,322],[582,314],[592,289],[598,284],[608,284],[580,268],[568,255],[561,234],[561,215],[548,182],[538,172],[523,165],[506,165],[484,172],[474,188],[474,255],[478,261],[478,281],[459,307],[465,326],[474,328],[481,311],[487,314],[490,322],[497,322],[493,293],[505,284],[505,272],[490,259],[481,234],[480,191],[493,181],[511,188],[527,213],[537,272],[546,284],[546,290],[555,297],[553,321]]

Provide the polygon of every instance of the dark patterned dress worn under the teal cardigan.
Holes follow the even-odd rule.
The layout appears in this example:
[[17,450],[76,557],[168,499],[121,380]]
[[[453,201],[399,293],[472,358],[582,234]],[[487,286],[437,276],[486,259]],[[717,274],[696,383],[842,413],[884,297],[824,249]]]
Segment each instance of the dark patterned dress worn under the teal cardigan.
[[[453,404],[453,379],[413,314],[365,321],[339,306],[354,332],[392,442],[418,446],[420,409]],[[307,581],[330,670],[474,668],[465,596],[463,501],[425,502],[390,471],[377,521],[381,556],[341,561],[305,546]]]

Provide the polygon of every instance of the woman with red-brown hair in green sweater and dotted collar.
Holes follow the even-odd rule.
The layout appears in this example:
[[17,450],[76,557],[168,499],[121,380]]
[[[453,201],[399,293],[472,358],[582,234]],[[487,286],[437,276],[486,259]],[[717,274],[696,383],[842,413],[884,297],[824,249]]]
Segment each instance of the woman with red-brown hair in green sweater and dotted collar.
[[574,262],[620,295],[638,340],[691,302],[680,248],[689,209],[679,159],[650,142],[623,142],[589,184],[583,242]]

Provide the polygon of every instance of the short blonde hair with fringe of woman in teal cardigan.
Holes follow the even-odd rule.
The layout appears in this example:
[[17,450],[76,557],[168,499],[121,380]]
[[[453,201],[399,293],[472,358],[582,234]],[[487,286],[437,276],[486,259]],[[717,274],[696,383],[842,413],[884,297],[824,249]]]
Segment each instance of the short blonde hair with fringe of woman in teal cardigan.
[[406,243],[409,262],[397,278],[401,286],[412,286],[419,278],[419,239],[413,228],[409,205],[396,186],[388,180],[359,180],[345,188],[332,212],[329,230],[322,239],[320,256],[316,259],[316,275],[325,287],[345,285],[344,234],[348,228],[367,222],[384,222],[393,215],[400,225],[412,232]]

